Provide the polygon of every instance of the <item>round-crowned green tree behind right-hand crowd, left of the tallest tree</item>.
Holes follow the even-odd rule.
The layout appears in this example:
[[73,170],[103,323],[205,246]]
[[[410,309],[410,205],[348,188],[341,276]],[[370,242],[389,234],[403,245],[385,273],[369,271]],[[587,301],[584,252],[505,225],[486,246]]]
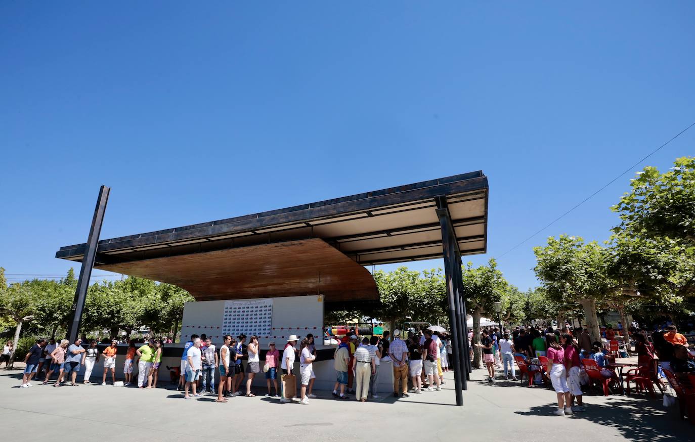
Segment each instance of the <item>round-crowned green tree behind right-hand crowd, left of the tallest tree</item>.
[[559,304],[561,313],[579,303],[592,341],[600,341],[596,303],[614,297],[620,289],[618,281],[608,274],[610,252],[595,241],[584,244],[582,238],[567,235],[551,236],[546,247],[534,247],[533,251],[537,263],[534,271],[546,297]]

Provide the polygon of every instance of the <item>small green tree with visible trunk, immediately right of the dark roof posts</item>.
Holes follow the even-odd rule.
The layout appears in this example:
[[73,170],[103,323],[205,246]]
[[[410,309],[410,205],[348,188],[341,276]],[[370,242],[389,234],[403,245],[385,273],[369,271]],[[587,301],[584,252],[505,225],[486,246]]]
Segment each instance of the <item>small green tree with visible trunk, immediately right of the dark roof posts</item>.
[[461,295],[466,300],[466,309],[473,316],[473,366],[480,367],[480,318],[494,314],[493,303],[505,302],[509,305],[509,284],[497,268],[497,262],[491,259],[487,265],[473,268],[467,263],[461,268],[463,286]]

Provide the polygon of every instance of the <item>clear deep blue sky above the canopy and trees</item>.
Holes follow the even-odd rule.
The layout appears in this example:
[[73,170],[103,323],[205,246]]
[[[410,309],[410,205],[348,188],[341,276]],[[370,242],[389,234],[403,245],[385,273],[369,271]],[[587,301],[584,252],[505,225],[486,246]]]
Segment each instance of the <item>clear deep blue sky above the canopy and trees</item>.
[[[65,272],[101,184],[111,238],[472,170],[483,263],[695,121],[694,22],[692,1],[3,1],[0,265]],[[687,154],[695,128],[646,164]],[[607,239],[630,175],[507,279],[536,284],[547,236]]]

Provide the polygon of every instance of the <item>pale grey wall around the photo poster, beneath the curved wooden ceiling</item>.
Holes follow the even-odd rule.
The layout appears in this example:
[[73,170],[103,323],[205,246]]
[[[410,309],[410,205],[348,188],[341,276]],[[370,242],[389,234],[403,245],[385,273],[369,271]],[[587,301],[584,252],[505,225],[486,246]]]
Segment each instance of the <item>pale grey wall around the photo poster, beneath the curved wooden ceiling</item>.
[[[181,341],[188,341],[192,334],[204,333],[206,336],[211,336],[213,343],[219,346],[224,336],[222,334],[224,302],[186,302],[183,306],[181,321]],[[291,334],[302,337],[308,333],[319,336],[317,343],[320,343],[320,336],[323,335],[323,297],[321,295],[272,298],[272,330],[266,336],[259,336],[261,348],[267,349],[270,341],[277,341],[277,347],[281,349]]]

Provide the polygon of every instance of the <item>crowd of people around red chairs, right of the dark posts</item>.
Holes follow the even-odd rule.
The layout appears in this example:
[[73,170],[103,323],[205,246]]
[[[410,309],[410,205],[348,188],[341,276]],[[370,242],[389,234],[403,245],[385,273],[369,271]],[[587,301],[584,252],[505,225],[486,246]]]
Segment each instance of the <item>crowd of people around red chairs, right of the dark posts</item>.
[[[620,324],[618,330],[618,335],[622,335],[623,341],[626,341],[623,347],[630,345],[631,338],[638,357],[658,360],[659,366],[654,380],[662,388],[668,386],[667,382],[664,382],[666,376],[663,370],[669,370],[682,379],[682,382],[689,383],[687,374],[695,373],[695,360],[689,356],[687,339],[678,333],[675,325],[654,331],[651,335],[652,342],[646,332],[639,329],[637,323],[633,322],[628,336],[623,334]],[[602,329],[602,337],[606,338],[607,343],[616,336],[611,331],[609,328]],[[553,413],[558,416],[586,411],[581,389],[582,384],[588,383],[588,376],[584,373],[584,360],[596,361],[602,377],[619,380],[612,366],[615,354],[612,354],[603,341],[591,341],[586,328],[570,331],[568,327],[516,327],[512,334],[509,334],[506,329],[500,331],[497,327],[488,327],[482,330],[480,343],[473,343],[473,331],[468,333],[468,340],[471,348],[477,346],[482,350],[482,359],[488,373],[486,380],[489,383],[495,381],[498,369],[503,369],[504,379],[518,380],[514,368],[516,358],[523,359],[530,368],[546,373],[557,393],[557,410]],[[544,358],[547,358],[545,364],[541,363],[541,360],[546,360]],[[540,373],[535,375],[534,382],[543,385]]]

